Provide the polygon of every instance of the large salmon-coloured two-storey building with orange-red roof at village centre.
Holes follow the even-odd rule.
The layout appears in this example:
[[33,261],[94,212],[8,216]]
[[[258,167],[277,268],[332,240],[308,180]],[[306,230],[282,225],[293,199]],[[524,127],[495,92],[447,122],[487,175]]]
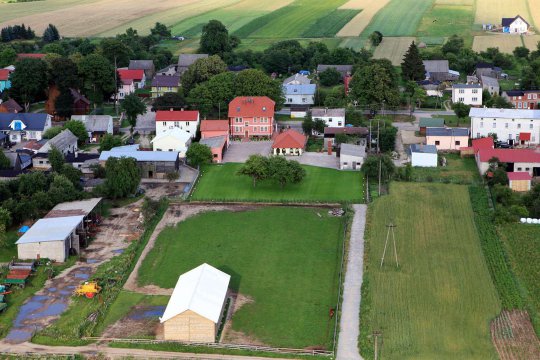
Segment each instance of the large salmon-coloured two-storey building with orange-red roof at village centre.
[[276,103],[267,96],[239,96],[229,103],[231,135],[268,138],[274,133]]

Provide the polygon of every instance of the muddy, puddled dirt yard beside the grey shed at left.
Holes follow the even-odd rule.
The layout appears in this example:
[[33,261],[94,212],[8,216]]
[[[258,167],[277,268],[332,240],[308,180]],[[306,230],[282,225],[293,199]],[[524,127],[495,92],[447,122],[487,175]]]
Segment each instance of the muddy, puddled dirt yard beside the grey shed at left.
[[[112,209],[111,216],[104,219],[96,239],[84,249],[80,261],[48,280],[42,290],[28,299],[19,309],[13,327],[4,339],[7,343],[29,341],[34,332],[56,321],[71,302],[77,285],[87,280],[99,264],[122,253],[129,241],[139,232],[138,208],[141,201],[125,208]],[[0,349],[3,349],[0,346]]]

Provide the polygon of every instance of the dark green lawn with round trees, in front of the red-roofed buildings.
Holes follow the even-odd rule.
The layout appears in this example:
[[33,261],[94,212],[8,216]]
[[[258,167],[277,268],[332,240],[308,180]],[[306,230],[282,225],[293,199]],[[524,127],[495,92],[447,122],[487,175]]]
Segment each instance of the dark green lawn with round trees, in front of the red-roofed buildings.
[[253,187],[250,177],[236,175],[241,166],[229,163],[204,167],[192,200],[352,203],[364,199],[360,172],[304,166],[305,179],[282,189],[271,180]]

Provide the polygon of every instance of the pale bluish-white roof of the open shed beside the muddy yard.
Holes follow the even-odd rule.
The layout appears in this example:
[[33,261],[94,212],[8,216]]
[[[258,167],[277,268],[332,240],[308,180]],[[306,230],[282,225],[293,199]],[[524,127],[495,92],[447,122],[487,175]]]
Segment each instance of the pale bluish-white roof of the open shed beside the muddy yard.
[[67,216],[38,220],[16,244],[61,241],[83,221],[84,216]]

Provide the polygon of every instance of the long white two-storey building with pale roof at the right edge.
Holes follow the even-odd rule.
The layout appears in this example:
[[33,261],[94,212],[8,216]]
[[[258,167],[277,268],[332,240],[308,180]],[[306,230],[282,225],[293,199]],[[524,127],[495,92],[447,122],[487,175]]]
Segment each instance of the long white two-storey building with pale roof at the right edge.
[[510,145],[540,143],[540,110],[471,108],[471,137],[496,134]]

